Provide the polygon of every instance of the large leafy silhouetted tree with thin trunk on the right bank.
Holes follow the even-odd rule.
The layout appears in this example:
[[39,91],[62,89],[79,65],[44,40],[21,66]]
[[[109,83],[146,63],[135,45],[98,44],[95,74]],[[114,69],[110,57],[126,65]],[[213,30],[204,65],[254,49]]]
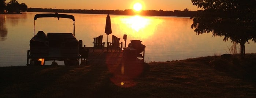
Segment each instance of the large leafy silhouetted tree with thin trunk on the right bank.
[[[199,10],[191,17],[191,29],[199,35],[212,32],[212,36],[224,36],[241,46],[241,58],[245,54],[245,43],[256,42],[256,0],[191,0]],[[248,42],[249,43],[249,42]]]

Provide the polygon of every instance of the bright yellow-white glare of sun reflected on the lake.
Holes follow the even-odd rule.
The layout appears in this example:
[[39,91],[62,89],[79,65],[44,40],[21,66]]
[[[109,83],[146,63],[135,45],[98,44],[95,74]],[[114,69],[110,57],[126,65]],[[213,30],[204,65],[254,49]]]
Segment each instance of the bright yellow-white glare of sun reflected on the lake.
[[147,38],[155,33],[155,29],[162,20],[153,17],[141,17],[139,15],[128,18],[120,18],[120,27],[127,32],[128,35],[135,38]]

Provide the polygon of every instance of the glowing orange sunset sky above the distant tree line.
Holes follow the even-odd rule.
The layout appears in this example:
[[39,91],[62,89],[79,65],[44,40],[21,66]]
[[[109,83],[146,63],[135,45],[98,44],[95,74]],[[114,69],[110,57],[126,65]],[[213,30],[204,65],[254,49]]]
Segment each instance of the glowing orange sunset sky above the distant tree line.
[[[6,0],[9,2],[10,0]],[[85,9],[85,10],[126,10],[141,2],[143,10],[184,10],[197,11],[191,0],[17,0],[28,8]]]

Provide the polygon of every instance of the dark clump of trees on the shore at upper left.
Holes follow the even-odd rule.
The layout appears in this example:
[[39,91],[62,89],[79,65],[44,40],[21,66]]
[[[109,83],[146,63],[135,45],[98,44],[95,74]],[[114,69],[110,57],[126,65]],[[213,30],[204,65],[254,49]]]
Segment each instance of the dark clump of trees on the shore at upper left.
[[6,0],[0,0],[0,12],[25,12],[27,11],[27,5],[25,3],[18,3],[17,0],[10,0],[5,3]]

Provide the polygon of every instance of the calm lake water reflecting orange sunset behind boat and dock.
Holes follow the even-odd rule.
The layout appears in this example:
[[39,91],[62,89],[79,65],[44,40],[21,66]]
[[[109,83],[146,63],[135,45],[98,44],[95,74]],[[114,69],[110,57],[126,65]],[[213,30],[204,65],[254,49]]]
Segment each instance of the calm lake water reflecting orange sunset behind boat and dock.
[[[33,37],[34,15],[42,12],[26,12],[20,15],[0,14],[0,67],[25,66],[29,41]],[[75,16],[75,37],[92,47],[93,37],[103,35],[107,15],[70,14]],[[190,29],[193,20],[188,17],[172,16],[129,16],[110,15],[112,35],[121,38],[127,34],[130,40],[141,40],[145,48],[145,62],[182,60],[201,56],[214,56],[229,53],[232,43],[224,42],[223,37],[212,34],[197,35]],[[71,19],[38,18],[36,33],[48,32],[73,33]],[[256,44],[249,41],[246,53],[256,53]],[[124,46],[124,45],[123,45]],[[106,45],[105,45],[106,47]]]

